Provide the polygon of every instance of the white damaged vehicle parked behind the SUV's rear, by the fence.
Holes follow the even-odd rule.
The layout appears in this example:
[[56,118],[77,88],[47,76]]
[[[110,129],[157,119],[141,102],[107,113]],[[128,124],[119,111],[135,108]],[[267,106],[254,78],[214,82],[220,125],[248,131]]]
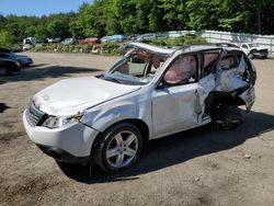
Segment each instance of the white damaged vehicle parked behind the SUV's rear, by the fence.
[[255,43],[240,43],[239,47],[248,55],[249,58],[267,58],[269,48],[258,46]]

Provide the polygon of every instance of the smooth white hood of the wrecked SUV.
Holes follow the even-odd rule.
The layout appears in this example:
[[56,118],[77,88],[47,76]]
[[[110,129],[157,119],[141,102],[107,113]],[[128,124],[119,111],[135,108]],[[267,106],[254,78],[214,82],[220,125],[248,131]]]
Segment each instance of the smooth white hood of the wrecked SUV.
[[34,95],[35,106],[54,116],[71,116],[112,99],[132,93],[140,85],[126,85],[95,77],[61,80]]

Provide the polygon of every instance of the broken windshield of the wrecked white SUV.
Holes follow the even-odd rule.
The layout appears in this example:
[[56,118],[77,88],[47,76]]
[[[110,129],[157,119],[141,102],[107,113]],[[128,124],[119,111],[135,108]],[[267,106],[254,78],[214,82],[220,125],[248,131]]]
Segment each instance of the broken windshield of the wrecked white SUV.
[[123,84],[147,84],[164,60],[156,54],[133,49],[101,78]]

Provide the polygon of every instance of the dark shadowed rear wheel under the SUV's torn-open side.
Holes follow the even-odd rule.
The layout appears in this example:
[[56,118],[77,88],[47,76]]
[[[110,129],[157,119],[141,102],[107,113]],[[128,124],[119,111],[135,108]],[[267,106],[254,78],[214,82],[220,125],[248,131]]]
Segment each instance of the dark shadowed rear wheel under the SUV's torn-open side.
[[235,129],[243,123],[241,111],[237,106],[220,105],[214,108],[213,127],[216,129]]

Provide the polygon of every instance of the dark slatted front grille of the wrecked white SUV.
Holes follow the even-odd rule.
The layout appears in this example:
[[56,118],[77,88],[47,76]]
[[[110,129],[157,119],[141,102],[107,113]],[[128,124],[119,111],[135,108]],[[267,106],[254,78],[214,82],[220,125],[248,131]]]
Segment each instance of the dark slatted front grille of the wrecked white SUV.
[[32,126],[41,126],[47,117],[47,114],[38,110],[33,102],[30,104],[27,114],[28,114],[28,123]]

